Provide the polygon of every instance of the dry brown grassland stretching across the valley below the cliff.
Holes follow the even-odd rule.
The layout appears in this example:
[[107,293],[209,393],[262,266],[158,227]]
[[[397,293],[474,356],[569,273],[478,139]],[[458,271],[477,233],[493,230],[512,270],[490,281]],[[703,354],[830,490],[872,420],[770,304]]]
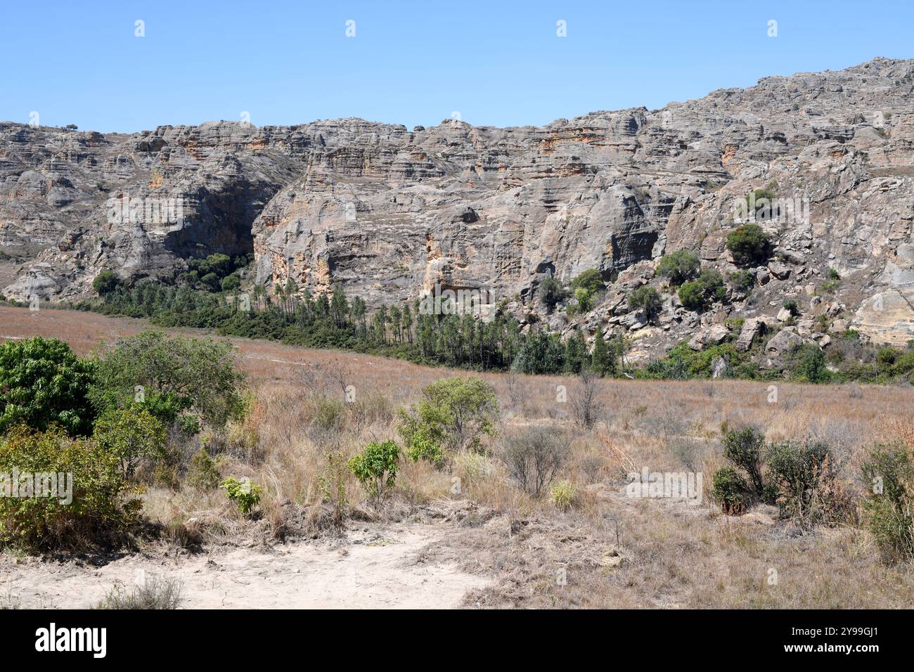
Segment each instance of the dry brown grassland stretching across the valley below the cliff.
[[[55,336],[82,355],[143,328],[125,318],[0,307],[0,338]],[[399,440],[400,408],[418,401],[436,379],[471,375],[383,357],[232,342],[252,405],[245,421],[205,439],[219,447],[222,476],[249,476],[263,486],[262,515],[239,517],[218,490],[151,487],[146,515],[172,530],[161,552],[186,553],[187,537],[202,539],[204,552],[242,540],[271,548],[325,539],[333,529],[318,476],[326,471],[327,453],[349,456],[370,441]],[[823,439],[848,492],[860,491],[859,466],[869,446],[914,440],[910,387],[783,383],[772,402],[768,383],[607,379],[597,383],[596,422],[587,430],[574,420],[579,379],[474,375],[490,382],[499,400],[496,433],[484,440],[488,453],[458,454],[442,469],[404,462],[379,511],[367,505],[352,475],[345,483],[350,530],[362,521],[446,530],[404,561],[451,563],[483,577],[482,587],[465,595],[465,606],[914,606],[909,566],[882,563],[863,526],[802,528],[766,506],[728,517],[707,497],[710,475],[723,464],[725,421],[758,427],[770,440]],[[342,416],[333,409],[328,415],[326,400],[342,400],[347,386],[355,401]],[[558,386],[567,388],[568,401],[558,400]],[[558,426],[573,436],[571,457],[558,473],[574,485],[567,509],[527,495],[494,456],[502,437],[531,425]],[[625,496],[626,476],[643,466],[702,473],[703,502]]]

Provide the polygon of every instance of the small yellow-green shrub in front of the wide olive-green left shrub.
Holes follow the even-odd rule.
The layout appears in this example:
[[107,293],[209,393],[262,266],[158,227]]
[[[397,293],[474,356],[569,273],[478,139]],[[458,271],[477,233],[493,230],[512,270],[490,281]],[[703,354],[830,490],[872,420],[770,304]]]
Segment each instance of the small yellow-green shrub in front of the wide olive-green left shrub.
[[131,479],[144,460],[165,457],[165,426],[138,406],[105,411],[95,424],[92,438],[121,460],[124,478]]

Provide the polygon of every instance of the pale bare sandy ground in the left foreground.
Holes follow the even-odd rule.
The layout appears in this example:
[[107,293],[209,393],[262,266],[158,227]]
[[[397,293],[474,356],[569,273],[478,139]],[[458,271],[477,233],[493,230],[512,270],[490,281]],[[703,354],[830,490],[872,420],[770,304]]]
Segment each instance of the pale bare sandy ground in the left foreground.
[[486,580],[423,563],[444,531],[420,524],[367,526],[347,540],[236,548],[191,557],[133,554],[103,567],[0,558],[0,600],[21,608],[87,608],[115,583],[143,576],[183,582],[182,608],[442,609]]

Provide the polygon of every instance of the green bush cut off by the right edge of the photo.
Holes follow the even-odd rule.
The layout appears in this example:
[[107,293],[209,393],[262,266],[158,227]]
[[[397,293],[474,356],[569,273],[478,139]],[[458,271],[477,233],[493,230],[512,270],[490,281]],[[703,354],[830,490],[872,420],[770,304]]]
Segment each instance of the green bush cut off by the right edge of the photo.
[[904,443],[877,444],[861,473],[866,523],[883,559],[914,559],[914,451]]

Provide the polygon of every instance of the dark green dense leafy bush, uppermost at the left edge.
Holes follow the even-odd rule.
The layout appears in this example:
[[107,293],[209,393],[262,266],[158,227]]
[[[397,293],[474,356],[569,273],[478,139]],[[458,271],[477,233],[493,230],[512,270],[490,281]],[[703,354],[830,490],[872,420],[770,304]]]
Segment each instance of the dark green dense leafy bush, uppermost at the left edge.
[[57,338],[0,345],[0,433],[17,424],[43,432],[56,423],[71,436],[89,434],[93,373],[90,361]]

